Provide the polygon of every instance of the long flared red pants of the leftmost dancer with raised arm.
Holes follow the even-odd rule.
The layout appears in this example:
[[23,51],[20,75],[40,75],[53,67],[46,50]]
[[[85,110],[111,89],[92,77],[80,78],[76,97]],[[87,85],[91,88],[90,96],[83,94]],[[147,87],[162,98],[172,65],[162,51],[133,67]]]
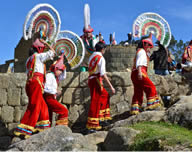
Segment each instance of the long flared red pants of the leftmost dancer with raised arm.
[[32,132],[36,131],[34,127],[40,127],[41,129],[50,127],[48,107],[42,94],[43,80],[43,74],[35,73],[34,77],[27,81],[26,93],[29,104],[21,119],[21,124],[14,132],[15,135],[31,135]]

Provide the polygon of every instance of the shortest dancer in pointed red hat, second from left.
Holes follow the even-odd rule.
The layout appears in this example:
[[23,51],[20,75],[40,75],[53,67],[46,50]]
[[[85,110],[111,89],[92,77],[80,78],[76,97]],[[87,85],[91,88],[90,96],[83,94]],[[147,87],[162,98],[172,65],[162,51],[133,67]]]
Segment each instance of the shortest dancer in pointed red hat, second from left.
[[46,83],[44,89],[44,99],[48,105],[49,109],[49,119],[52,123],[52,113],[55,112],[59,114],[56,125],[68,125],[68,110],[67,108],[59,103],[56,100],[57,94],[60,94],[57,91],[59,81],[62,81],[66,78],[66,67],[63,64],[63,55],[56,61],[55,64],[52,64],[50,67],[51,73],[46,75]]

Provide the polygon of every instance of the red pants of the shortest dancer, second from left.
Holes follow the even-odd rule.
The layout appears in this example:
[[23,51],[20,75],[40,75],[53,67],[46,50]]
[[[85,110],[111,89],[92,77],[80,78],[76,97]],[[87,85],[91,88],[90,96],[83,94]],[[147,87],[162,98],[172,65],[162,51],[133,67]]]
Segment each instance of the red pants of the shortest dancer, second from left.
[[45,93],[44,95],[45,102],[48,105],[49,109],[49,120],[52,122],[53,112],[59,114],[58,120],[56,121],[56,125],[68,125],[68,110],[64,105],[59,103],[55,96],[52,94]]

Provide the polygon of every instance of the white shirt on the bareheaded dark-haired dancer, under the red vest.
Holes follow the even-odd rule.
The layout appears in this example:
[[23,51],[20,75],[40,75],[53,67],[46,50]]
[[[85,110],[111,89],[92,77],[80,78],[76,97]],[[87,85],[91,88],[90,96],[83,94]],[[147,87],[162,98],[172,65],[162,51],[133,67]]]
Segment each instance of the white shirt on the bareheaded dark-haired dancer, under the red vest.
[[[93,52],[93,54],[90,56],[89,58],[89,62],[88,64],[91,62],[91,60],[93,59],[94,56],[96,55],[100,55],[102,56],[102,53],[101,52]],[[99,63],[97,64],[97,68],[96,68],[96,71],[94,74],[98,74],[100,73],[100,76],[103,76],[105,73],[106,73],[106,68],[105,68],[105,59],[104,57],[102,56]]]

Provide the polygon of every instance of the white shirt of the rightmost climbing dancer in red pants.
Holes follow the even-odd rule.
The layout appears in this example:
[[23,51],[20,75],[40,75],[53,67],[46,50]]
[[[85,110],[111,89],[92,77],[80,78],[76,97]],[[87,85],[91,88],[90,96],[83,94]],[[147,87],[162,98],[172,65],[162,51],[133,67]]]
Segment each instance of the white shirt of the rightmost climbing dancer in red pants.
[[136,68],[138,68],[138,66],[146,66],[147,67],[147,54],[146,54],[144,49],[141,49],[137,53]]

